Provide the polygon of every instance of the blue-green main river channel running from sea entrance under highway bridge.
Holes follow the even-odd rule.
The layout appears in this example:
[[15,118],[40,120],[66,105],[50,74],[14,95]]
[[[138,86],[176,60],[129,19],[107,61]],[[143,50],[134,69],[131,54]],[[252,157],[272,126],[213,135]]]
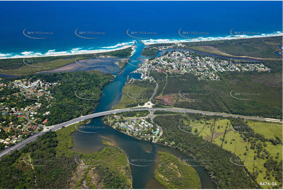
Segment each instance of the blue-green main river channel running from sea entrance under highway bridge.
[[[135,52],[131,56],[133,60],[138,60],[141,52],[145,47],[140,42],[136,43]],[[158,53],[156,56],[159,56]],[[132,77],[131,73],[136,70],[136,66],[127,64],[124,69],[121,70],[120,76],[116,76],[115,79],[109,82],[103,88],[103,96],[100,99],[99,104],[96,106],[94,113],[108,111],[113,109],[122,98],[122,88],[125,85],[127,77]],[[132,176],[133,176],[133,188],[135,189],[164,189],[165,187],[159,184],[154,178],[155,169],[159,165],[159,151],[167,152],[175,155],[177,158],[182,156],[182,159],[190,159],[183,152],[165,146],[162,144],[156,144],[144,140],[139,140],[135,137],[121,133],[112,127],[105,125],[102,121],[102,117],[97,117],[91,120],[87,126],[96,126],[96,129],[85,129],[86,132],[98,132],[98,133],[82,133],[76,131],[71,134],[73,138],[73,148],[71,151],[77,151],[82,153],[93,153],[102,150],[105,145],[101,143],[102,140],[108,141],[112,146],[119,146],[122,148],[129,156],[129,162],[131,160],[149,160],[140,161],[130,164]],[[187,162],[190,165],[199,165],[196,162]],[[133,165],[135,164],[135,165]],[[137,166],[138,165],[138,166]],[[209,174],[201,166],[194,167],[198,173],[202,188],[210,189],[216,188],[214,182],[210,179]]]

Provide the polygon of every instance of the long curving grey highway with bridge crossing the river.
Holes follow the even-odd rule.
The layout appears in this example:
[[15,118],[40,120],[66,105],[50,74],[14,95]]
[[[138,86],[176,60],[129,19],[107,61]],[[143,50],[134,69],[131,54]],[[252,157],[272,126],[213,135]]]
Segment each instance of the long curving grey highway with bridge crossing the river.
[[[241,118],[245,118],[245,119],[260,120],[260,121],[274,121],[274,122],[281,122],[282,123],[282,121],[280,121],[280,120],[270,119],[270,118],[242,116],[242,115],[234,115],[234,114],[228,114],[228,113],[206,112],[206,111],[198,111],[198,110],[183,109],[183,108],[137,108],[137,109],[128,108],[128,109],[110,110],[110,111],[105,111],[105,112],[93,113],[93,114],[86,115],[86,116],[81,116],[81,117],[72,119],[70,121],[66,121],[64,123],[61,123],[61,124],[50,126],[49,128],[50,128],[51,131],[56,131],[58,129],[61,129],[62,126],[71,125],[71,124],[74,124],[74,123],[77,123],[79,121],[83,121],[83,120],[86,120],[86,119],[101,117],[101,116],[109,115],[109,114],[112,114],[112,113],[114,114],[114,113],[120,113],[120,112],[141,111],[141,110],[149,110],[149,111],[161,110],[161,111],[173,111],[173,112],[181,112],[181,113],[202,113],[202,114],[206,114],[206,115],[218,115],[218,116],[224,116],[224,117],[241,117]],[[28,137],[27,139],[15,144],[14,146],[11,146],[10,148],[3,150],[2,152],[0,152],[0,157],[4,156],[6,154],[10,154],[14,150],[20,150],[26,144],[36,140],[36,138],[38,136],[44,134],[45,132],[47,132],[47,131],[41,131],[41,132],[38,132],[38,133],[34,133],[32,136]]]

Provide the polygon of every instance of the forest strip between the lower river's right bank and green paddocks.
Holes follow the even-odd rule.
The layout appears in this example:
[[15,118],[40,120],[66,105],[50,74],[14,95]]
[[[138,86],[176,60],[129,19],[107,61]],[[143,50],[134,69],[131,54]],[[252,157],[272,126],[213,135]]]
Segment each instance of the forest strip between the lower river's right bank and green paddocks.
[[242,167],[230,162],[232,156],[237,157],[234,153],[224,150],[202,137],[177,130],[182,119],[182,115],[155,117],[154,122],[163,129],[162,139],[159,140],[159,143],[174,142],[171,146],[182,150],[194,159],[209,160],[209,162],[200,162],[200,164],[203,165],[219,188],[243,189],[259,186],[246,175],[250,175],[246,168],[243,170]]

